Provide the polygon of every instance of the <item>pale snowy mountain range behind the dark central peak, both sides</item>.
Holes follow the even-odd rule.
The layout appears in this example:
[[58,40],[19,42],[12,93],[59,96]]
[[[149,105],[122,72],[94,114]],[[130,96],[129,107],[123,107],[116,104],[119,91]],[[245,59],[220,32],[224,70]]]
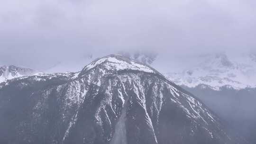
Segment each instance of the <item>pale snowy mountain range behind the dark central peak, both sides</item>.
[[[160,55],[154,53],[127,53],[119,52],[129,58],[135,59],[141,63],[156,67]],[[92,54],[74,60],[75,62],[60,62],[45,70],[44,72],[75,72],[89,63],[94,56]],[[227,54],[209,54],[201,57],[201,62],[196,66],[181,70],[180,72],[163,72],[165,76],[177,85],[194,88],[208,87],[213,90],[219,90],[221,87],[233,88],[236,90],[256,87],[256,54],[245,54],[242,56],[230,57]],[[159,63],[159,62],[158,62]],[[164,63],[164,62],[161,62]],[[166,62],[165,62],[166,63]],[[182,65],[183,63],[181,63]],[[172,67],[172,62],[168,62]],[[0,67],[0,82],[17,78],[20,76],[29,76],[36,71],[17,66]]]

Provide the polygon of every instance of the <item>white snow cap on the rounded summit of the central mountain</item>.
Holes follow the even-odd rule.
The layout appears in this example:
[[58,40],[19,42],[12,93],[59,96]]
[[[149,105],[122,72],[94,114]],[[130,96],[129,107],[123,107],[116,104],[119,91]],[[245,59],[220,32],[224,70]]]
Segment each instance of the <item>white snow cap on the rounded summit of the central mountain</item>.
[[93,61],[88,64],[83,70],[91,70],[98,65],[103,65],[108,70],[119,71],[119,70],[137,70],[143,72],[155,73],[150,67],[137,63],[133,60],[122,59],[120,55],[109,55]]

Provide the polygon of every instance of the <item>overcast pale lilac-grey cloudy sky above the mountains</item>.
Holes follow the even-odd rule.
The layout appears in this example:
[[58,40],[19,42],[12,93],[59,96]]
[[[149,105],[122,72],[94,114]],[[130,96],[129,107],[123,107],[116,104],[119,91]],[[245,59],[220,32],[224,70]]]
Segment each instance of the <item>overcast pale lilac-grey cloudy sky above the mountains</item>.
[[120,50],[240,53],[256,49],[255,38],[256,0],[0,2],[0,64],[45,69]]

